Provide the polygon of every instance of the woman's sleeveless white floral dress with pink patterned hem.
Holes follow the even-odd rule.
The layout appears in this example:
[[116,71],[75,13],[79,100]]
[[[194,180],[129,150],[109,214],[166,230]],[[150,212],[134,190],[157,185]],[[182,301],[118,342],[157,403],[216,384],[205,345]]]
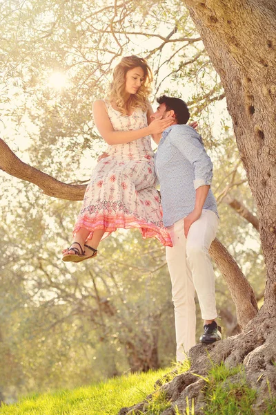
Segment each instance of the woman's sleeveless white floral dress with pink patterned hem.
[[[146,112],[135,109],[124,116],[104,101],[115,131],[129,131],[148,125]],[[83,205],[73,234],[80,228],[104,229],[103,238],[118,228],[138,228],[143,238],[155,237],[164,246],[172,246],[164,228],[157,192],[154,154],[150,136],[125,144],[108,145],[108,157],[95,167],[86,187]]]

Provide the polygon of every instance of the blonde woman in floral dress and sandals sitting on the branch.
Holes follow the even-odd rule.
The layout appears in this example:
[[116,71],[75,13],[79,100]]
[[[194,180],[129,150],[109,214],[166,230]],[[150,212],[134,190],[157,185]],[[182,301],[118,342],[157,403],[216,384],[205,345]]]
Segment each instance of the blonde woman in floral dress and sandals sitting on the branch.
[[124,57],[114,70],[108,99],[93,103],[108,157],[92,172],[73,230],[74,242],[63,250],[63,261],[95,257],[99,242],[118,228],[138,228],[143,238],[155,237],[172,246],[155,189],[150,135],[161,133],[174,120],[150,122],[150,82],[152,73],[145,59]]

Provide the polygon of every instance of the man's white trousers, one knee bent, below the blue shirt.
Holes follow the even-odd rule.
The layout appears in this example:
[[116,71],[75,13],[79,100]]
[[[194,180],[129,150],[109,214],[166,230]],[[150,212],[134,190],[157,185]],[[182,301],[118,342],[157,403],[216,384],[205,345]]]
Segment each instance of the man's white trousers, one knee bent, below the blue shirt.
[[208,249],[215,239],[219,218],[211,210],[202,210],[184,235],[184,219],[168,227],[173,247],[166,247],[166,259],[172,282],[172,302],[175,307],[177,361],[182,362],[195,346],[195,290],[199,299],[201,317],[214,320],[215,274]]

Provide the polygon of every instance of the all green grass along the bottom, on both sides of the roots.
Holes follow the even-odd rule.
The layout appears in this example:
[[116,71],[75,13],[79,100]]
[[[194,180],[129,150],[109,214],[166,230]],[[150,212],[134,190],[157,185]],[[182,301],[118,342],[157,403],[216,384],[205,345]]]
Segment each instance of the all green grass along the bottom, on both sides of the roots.
[[[121,407],[130,407],[145,400],[148,401],[146,415],[160,415],[170,407],[164,391],[154,388],[157,379],[162,385],[189,368],[187,365],[177,367],[175,373],[164,376],[173,368],[148,371],[144,374],[130,374],[106,380],[87,387],[72,391],[57,391],[55,393],[40,394],[22,398],[15,405],[3,405],[0,414],[3,415],[117,415]],[[242,366],[228,369],[221,365],[213,365],[208,376],[199,376],[206,382],[204,394],[206,396],[205,415],[253,415],[253,405],[257,392],[250,389],[246,383],[246,376]],[[268,389],[269,385],[268,385]],[[153,392],[152,392],[153,391]],[[186,400],[186,411],[180,412],[175,408],[177,415],[195,415],[194,403]],[[266,400],[266,409],[260,415],[276,414],[276,398],[272,396]]]

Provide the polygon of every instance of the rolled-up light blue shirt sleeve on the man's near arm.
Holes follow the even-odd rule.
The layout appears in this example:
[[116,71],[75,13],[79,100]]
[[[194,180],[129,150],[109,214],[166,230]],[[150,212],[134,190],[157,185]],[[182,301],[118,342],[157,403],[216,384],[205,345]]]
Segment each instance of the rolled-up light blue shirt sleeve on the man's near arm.
[[[180,127],[180,126],[179,126]],[[186,158],[195,172],[193,181],[195,190],[204,185],[210,185],[213,178],[213,163],[204,149],[201,137],[192,127],[185,126],[186,129],[174,129],[170,138],[172,145],[177,147],[181,154]]]

